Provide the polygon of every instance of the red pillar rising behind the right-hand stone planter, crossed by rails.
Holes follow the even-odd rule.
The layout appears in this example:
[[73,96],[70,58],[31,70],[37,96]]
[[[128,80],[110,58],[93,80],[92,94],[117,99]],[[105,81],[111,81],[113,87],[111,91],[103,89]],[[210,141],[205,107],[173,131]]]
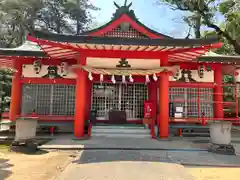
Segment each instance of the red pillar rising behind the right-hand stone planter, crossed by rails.
[[214,70],[214,117],[215,118],[223,118],[223,87],[222,87],[222,67],[221,65],[216,67]]

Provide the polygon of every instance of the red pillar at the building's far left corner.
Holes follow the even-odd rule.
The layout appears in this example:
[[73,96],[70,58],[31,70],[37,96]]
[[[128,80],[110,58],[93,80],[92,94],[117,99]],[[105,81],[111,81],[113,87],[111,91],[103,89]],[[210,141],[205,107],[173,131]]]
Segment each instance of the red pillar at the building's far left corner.
[[16,115],[20,114],[21,109],[21,75],[22,75],[22,65],[19,62],[15,64],[16,72],[12,77],[12,89],[11,89],[11,103],[9,111],[9,119],[11,121],[16,120]]

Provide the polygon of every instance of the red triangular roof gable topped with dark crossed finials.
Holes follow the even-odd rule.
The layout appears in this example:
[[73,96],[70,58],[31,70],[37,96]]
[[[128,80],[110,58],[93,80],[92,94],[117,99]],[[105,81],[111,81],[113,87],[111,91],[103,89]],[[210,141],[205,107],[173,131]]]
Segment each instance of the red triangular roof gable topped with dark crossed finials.
[[130,10],[132,3],[127,5],[127,0],[125,0],[124,6],[119,6],[116,2],[114,2],[114,4],[117,10],[109,23],[91,31],[84,32],[82,35],[139,39],[171,38],[146,27],[138,21],[134,11]]

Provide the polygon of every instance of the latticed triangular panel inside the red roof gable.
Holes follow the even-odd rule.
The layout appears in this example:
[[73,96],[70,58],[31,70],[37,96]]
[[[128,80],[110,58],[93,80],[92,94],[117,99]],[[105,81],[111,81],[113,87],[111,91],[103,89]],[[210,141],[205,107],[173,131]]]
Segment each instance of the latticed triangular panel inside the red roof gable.
[[107,37],[119,37],[119,38],[138,38],[138,39],[148,39],[143,33],[134,29],[131,25],[126,28],[121,25],[106,32],[103,36]]

